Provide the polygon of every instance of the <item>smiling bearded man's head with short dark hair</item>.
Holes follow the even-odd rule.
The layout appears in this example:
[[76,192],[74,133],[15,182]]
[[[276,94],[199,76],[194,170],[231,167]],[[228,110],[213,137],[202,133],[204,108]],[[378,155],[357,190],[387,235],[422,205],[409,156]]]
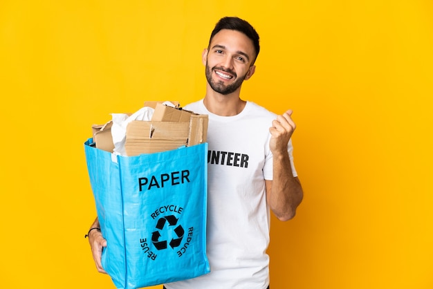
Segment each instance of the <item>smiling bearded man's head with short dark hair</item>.
[[259,50],[259,35],[247,21],[222,18],[203,51],[206,79],[212,90],[223,95],[239,92],[243,80],[255,73]]

